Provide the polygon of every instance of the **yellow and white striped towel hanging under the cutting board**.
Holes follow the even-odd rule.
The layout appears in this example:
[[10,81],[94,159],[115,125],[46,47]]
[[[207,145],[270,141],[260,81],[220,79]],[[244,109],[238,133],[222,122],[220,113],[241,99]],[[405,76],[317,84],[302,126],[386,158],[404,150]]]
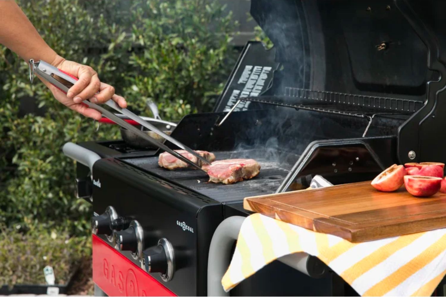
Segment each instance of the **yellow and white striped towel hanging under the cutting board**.
[[253,214],[242,224],[223,288],[294,252],[317,256],[362,296],[430,296],[446,274],[446,228],[351,243]]

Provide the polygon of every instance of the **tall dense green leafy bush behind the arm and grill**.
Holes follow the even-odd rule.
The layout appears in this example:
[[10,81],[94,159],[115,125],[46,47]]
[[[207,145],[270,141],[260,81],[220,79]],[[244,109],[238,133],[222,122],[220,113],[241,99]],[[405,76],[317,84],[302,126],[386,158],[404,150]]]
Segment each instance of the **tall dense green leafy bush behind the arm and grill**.
[[[131,108],[178,119],[207,111],[236,57],[229,46],[231,16],[209,0],[17,0],[45,41],[67,59],[91,65]],[[116,9],[116,5],[121,5]],[[89,205],[74,198],[74,162],[67,142],[119,137],[57,102],[28,81],[28,65],[0,46],[0,220],[49,227],[56,220],[85,236]],[[25,96],[37,112],[22,116]],[[39,114],[39,115],[37,115]],[[2,186],[3,185],[3,186]]]

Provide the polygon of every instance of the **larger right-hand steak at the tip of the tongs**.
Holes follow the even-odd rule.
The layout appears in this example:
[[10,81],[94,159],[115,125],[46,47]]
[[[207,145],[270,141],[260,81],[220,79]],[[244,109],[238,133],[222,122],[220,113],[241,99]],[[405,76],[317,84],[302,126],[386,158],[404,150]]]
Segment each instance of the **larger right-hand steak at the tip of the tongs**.
[[213,183],[231,184],[252,179],[260,172],[260,164],[254,159],[227,159],[204,164],[202,169]]

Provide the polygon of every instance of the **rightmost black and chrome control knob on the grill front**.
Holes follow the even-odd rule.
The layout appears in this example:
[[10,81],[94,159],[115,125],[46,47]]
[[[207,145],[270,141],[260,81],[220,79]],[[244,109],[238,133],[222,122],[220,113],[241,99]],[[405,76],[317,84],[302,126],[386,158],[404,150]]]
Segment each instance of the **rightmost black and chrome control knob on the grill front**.
[[174,259],[173,247],[169,240],[161,238],[157,246],[142,252],[141,268],[148,273],[161,273],[163,281],[170,281],[173,277]]

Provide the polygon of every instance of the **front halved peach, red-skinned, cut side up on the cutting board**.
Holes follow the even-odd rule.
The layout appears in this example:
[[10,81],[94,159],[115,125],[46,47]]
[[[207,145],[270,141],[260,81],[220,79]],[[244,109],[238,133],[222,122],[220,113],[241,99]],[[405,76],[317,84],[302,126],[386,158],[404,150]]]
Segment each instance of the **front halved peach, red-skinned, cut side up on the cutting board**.
[[440,190],[442,178],[433,176],[405,175],[406,190],[416,197],[429,197]]

